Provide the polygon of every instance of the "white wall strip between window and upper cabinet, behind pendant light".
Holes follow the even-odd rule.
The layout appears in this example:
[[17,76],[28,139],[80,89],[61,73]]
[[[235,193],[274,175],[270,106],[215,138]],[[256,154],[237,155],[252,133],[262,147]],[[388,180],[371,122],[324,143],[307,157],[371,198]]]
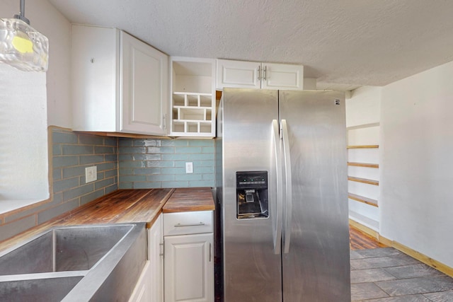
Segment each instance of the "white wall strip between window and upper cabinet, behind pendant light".
[[[19,0],[0,0],[0,18],[13,18]],[[71,128],[71,24],[47,0],[25,1],[30,25],[49,38],[47,71],[47,124]]]

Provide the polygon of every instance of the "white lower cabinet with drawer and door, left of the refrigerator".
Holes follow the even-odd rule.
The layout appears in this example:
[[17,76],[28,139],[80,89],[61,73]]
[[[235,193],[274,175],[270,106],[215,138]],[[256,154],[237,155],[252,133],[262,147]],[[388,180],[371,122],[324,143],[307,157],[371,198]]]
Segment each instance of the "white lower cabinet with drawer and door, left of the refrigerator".
[[[178,233],[186,234],[167,236],[173,228],[178,228]],[[164,214],[165,302],[214,301],[212,230],[212,211]]]

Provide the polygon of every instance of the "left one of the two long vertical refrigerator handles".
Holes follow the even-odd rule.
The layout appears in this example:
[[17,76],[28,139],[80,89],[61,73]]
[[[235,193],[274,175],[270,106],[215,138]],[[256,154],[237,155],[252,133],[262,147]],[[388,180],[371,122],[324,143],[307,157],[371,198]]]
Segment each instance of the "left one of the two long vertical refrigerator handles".
[[275,214],[275,225],[273,226],[274,252],[280,254],[282,250],[282,208],[283,208],[283,180],[282,166],[280,165],[280,135],[277,120],[272,121],[273,139],[275,148],[275,172],[277,173],[277,213]]

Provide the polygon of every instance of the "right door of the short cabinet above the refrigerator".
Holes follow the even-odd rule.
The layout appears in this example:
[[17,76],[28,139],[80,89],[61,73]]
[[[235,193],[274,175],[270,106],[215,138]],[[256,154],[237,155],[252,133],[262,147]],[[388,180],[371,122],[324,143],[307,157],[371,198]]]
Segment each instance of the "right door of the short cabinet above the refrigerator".
[[303,90],[304,66],[263,63],[261,88]]

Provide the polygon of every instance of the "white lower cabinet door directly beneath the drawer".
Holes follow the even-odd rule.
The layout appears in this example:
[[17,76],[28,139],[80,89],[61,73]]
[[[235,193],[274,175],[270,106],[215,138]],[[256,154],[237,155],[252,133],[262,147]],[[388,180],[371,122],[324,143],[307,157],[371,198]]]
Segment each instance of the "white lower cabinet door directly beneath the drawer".
[[214,301],[212,233],[166,236],[165,301]]

